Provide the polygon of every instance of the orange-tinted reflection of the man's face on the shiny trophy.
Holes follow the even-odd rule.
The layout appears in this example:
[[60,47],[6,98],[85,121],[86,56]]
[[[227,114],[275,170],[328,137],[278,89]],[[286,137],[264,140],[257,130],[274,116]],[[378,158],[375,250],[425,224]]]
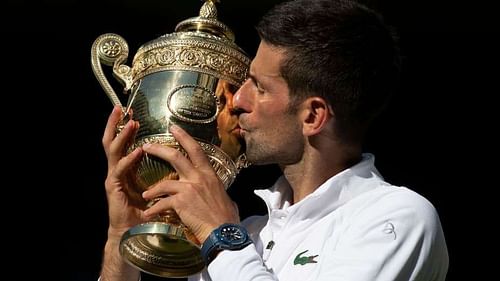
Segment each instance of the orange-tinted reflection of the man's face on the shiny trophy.
[[240,136],[238,116],[233,110],[233,96],[236,89],[237,87],[227,81],[219,80],[215,90],[221,108],[217,116],[217,131],[221,140],[220,148],[233,160],[243,152],[243,138]]

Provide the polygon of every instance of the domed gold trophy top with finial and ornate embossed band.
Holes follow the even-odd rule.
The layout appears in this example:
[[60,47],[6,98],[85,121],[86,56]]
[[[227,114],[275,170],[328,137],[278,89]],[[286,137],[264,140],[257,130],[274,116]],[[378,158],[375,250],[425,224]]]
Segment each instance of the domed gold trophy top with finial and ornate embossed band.
[[217,20],[215,2],[219,0],[205,0],[198,17],[142,45],[132,62],[133,82],[158,71],[185,70],[243,84],[250,58],[235,44],[231,29]]

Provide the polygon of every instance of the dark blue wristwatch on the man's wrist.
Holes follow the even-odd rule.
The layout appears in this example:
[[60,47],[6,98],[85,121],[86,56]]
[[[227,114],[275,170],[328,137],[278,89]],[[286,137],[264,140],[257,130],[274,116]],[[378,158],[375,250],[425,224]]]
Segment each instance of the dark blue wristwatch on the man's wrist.
[[201,256],[208,266],[223,250],[240,250],[252,243],[247,230],[239,225],[225,223],[216,228],[201,246]]

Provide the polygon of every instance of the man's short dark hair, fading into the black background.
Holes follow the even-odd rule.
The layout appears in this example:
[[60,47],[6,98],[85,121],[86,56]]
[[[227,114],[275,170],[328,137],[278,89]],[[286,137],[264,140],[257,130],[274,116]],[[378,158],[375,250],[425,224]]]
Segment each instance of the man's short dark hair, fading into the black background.
[[333,108],[338,137],[361,142],[399,81],[393,27],[349,0],[292,0],[258,23],[264,42],[285,51],[281,75],[292,100],[321,96]]

